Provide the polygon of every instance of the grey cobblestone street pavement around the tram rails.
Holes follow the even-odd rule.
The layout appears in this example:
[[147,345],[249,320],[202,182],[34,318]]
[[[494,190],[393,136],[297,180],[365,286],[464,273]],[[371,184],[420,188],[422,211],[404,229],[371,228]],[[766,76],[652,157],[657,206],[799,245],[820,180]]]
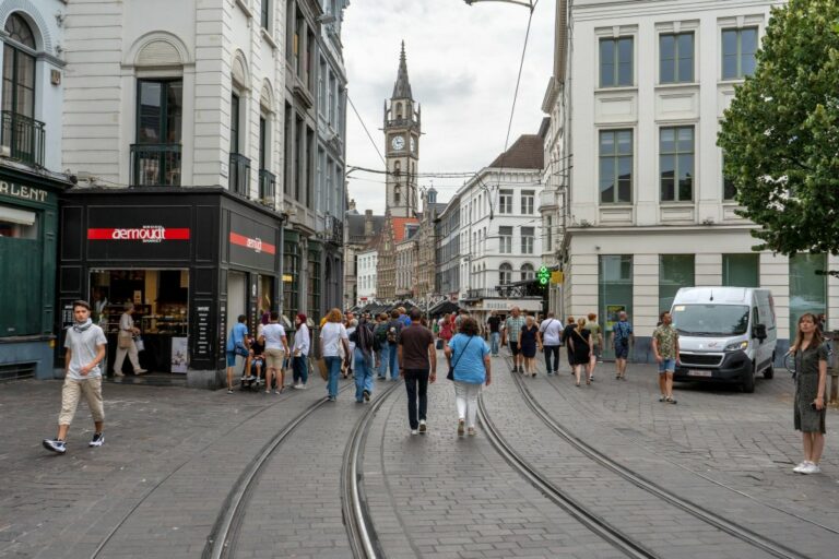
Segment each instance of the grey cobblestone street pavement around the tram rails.
[[[528,383],[571,432],[801,554],[836,556],[839,440],[831,430],[839,413],[828,414],[824,474],[793,474],[801,444],[785,372],[758,381],[754,394],[680,384],[673,406],[658,402],[652,367],[630,366],[622,382],[601,365],[596,381],[580,389],[565,367]],[[494,370],[487,412],[557,485],[662,557],[760,557],[591,466],[523,405],[506,361],[494,359]],[[523,481],[483,433],[456,437],[453,391],[442,371],[430,389],[427,436],[409,433],[399,388],[367,439],[365,490],[387,557],[617,557]],[[241,472],[323,396],[320,379],[310,383],[279,396],[108,383],[105,445],[87,448],[92,423],[82,404],[64,456],[40,447],[55,433],[61,383],[0,384],[0,557],[91,557],[106,538],[101,557],[200,557]],[[377,382],[379,393],[383,384]],[[347,433],[365,408],[351,392],[316,412],[271,459],[237,557],[350,556],[339,476]]]

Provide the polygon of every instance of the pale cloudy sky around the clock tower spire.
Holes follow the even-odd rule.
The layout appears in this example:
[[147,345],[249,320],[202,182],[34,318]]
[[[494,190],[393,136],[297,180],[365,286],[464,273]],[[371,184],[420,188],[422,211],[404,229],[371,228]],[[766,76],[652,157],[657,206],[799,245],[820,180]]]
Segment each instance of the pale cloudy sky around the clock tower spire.
[[[554,0],[540,0],[533,15],[524,70],[510,133],[536,133],[551,78]],[[342,41],[348,94],[373,139],[385,152],[382,105],[393,92],[404,39],[414,99],[422,104],[420,173],[472,171],[501,153],[528,25],[525,8],[463,0],[352,0]],[[385,168],[347,107],[347,166]],[[420,186],[430,186],[421,179]],[[438,200],[460,186],[434,179]],[[355,171],[350,198],[359,212],[385,212],[381,175]]]

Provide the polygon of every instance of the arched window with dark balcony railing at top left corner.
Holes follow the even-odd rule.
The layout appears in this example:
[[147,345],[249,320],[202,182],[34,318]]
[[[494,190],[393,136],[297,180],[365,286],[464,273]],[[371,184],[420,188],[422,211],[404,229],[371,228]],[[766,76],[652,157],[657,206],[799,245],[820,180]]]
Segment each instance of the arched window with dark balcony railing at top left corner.
[[43,146],[37,144],[44,140],[36,134],[36,123],[32,120],[35,118],[35,57],[20,48],[35,50],[35,34],[16,13],[5,21],[5,32],[11,40],[3,45],[2,143],[10,146],[12,157],[35,163],[36,156],[43,155]]

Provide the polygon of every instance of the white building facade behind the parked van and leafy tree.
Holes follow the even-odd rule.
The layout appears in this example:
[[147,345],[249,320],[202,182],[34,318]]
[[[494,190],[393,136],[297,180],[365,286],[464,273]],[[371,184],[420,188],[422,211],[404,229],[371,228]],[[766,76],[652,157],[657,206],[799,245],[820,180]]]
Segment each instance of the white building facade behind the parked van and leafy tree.
[[627,311],[636,359],[649,358],[659,313],[683,286],[770,288],[779,356],[801,313],[839,325],[839,281],[815,273],[839,260],[753,252],[716,145],[777,3],[581,0],[560,32],[572,163],[564,311],[598,312],[606,331]]

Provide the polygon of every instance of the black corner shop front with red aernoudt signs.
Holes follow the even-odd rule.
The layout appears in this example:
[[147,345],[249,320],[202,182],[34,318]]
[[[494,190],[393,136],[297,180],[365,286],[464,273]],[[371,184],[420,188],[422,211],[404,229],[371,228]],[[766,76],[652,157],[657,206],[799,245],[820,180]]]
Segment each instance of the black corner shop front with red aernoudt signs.
[[[140,365],[217,388],[226,332],[239,314],[251,332],[276,308],[280,215],[213,188],[85,189],[62,199],[61,326],[88,299],[108,337],[113,374],[128,304],[141,330]],[[59,356],[60,359],[60,356]],[[123,372],[131,374],[128,359]]]

